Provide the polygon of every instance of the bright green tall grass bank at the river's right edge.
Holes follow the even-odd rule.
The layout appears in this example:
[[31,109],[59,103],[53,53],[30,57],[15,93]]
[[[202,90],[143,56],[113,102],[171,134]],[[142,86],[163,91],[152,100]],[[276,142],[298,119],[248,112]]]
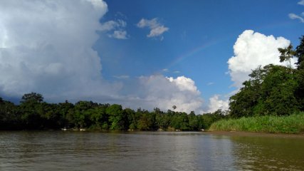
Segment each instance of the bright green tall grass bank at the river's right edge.
[[247,131],[256,133],[303,133],[304,113],[288,116],[260,116],[219,120],[210,131]]

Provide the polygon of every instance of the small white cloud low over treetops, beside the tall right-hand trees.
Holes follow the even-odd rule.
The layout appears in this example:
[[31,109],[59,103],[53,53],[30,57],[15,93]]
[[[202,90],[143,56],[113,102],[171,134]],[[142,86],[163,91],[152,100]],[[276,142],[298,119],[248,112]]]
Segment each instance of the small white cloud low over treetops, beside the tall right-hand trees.
[[228,110],[229,100],[219,99],[220,95],[214,95],[209,98],[209,110],[208,113],[214,113],[216,110]]

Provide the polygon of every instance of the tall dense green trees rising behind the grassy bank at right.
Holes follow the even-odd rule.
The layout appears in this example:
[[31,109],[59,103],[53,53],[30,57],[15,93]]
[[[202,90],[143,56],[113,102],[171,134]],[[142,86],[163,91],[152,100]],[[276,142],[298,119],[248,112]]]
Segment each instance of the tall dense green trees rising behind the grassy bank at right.
[[[303,75],[285,66],[256,68],[239,93],[230,98],[232,118],[253,115],[289,115],[303,108]],[[300,90],[299,90],[300,89]]]

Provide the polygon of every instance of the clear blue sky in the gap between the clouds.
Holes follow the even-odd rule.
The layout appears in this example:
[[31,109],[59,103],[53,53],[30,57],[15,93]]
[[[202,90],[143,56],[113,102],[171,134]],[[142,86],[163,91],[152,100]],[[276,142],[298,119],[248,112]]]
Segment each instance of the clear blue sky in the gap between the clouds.
[[[108,55],[101,55],[108,79],[154,73],[183,75],[192,78],[208,99],[215,93],[226,94],[234,89],[226,74],[227,61],[234,56],[234,43],[243,31],[251,29],[298,43],[304,24],[288,17],[303,11],[304,6],[297,2],[107,1],[109,11],[101,21],[125,19],[130,38],[109,40],[110,48],[96,43],[95,49],[100,53],[110,49]],[[148,30],[136,26],[142,18],[157,18],[169,28],[163,41],[145,37]],[[165,68],[168,71],[162,72]]]

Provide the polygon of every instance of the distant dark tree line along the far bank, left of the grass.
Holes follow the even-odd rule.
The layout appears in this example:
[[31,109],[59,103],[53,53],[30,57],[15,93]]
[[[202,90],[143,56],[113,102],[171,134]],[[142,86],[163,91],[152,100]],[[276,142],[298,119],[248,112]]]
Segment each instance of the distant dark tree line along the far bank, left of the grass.
[[46,103],[39,93],[23,95],[19,105],[0,98],[0,130],[201,130],[221,118],[224,118],[221,110],[195,115],[174,110],[163,112],[159,108],[123,109],[122,105],[92,101]]

